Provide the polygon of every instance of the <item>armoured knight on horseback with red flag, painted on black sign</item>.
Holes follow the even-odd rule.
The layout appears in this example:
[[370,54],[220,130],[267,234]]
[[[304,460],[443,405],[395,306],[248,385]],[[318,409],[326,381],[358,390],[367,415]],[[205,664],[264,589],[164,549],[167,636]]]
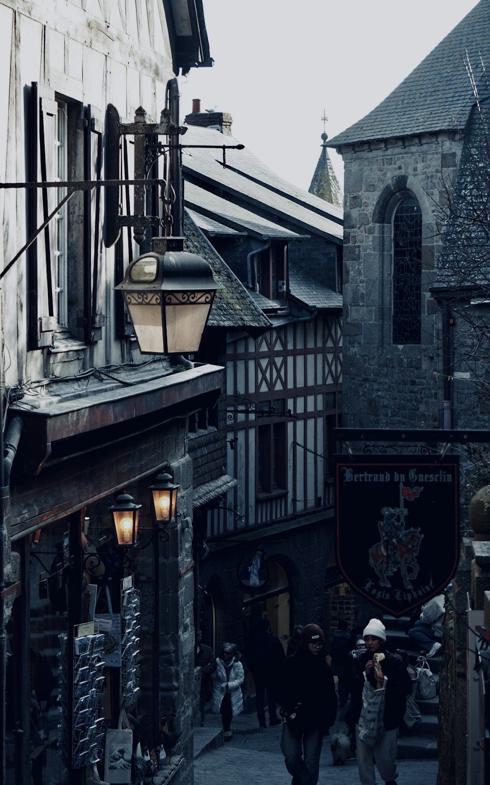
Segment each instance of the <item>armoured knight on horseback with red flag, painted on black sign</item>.
[[411,580],[419,574],[416,557],[423,535],[419,528],[405,529],[408,509],[404,509],[404,501],[419,498],[422,490],[422,487],[409,488],[400,483],[400,506],[382,507],[383,520],[378,520],[381,542],[369,549],[369,564],[378,575],[380,586],[390,587],[388,576],[400,569],[405,589],[411,589]]

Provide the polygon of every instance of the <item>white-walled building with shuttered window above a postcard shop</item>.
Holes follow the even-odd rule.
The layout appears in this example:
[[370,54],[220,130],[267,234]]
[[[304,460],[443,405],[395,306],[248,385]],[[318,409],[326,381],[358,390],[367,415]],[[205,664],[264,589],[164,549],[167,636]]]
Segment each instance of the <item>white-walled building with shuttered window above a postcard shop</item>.
[[[114,287],[182,235],[176,76],[211,64],[202,2],[2,0],[0,64],[0,780],[104,780],[104,748],[127,769],[166,723],[180,743],[154,781],[192,782],[188,419],[224,371],[143,356]],[[156,528],[164,469],[177,513]],[[116,544],[121,495],[136,548],[127,520]]]

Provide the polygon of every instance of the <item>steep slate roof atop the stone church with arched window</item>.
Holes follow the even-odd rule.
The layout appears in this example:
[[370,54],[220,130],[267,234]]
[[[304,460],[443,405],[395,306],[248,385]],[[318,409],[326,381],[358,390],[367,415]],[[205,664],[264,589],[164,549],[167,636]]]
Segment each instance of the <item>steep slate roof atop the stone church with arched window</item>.
[[[421,20],[423,24],[423,20]],[[343,144],[463,130],[474,105],[463,58],[482,85],[480,54],[490,63],[490,0],[481,0],[414,71],[363,119],[331,139]],[[485,95],[488,89],[485,87]]]

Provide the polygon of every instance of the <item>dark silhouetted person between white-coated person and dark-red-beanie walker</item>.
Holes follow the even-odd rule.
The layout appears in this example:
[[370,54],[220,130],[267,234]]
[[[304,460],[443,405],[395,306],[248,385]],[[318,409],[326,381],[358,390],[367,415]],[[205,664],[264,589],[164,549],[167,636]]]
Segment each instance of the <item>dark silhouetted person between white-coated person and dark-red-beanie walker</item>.
[[280,718],[276,714],[277,705],[274,698],[276,692],[274,682],[277,677],[277,669],[284,657],[283,644],[276,635],[272,635],[269,620],[259,619],[257,630],[250,643],[247,666],[254,677],[255,707],[260,728],[266,727],[265,692],[267,692],[267,704],[269,707],[269,725],[271,727],[272,725],[280,725]]

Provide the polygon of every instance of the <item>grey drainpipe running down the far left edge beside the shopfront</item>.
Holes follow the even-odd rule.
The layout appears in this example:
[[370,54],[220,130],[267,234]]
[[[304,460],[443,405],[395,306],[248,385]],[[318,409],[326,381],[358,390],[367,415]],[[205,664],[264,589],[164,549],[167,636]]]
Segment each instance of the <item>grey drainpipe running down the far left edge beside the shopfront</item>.
[[[0,396],[3,389],[0,388]],[[3,405],[0,400],[0,679],[2,679],[2,695],[0,700],[0,781],[5,782],[5,668],[7,664],[7,649],[5,641],[5,598],[2,597],[5,589],[5,517],[10,497],[10,470],[19,445],[20,433],[24,422],[20,417],[14,417],[9,424],[5,439],[3,436]]]

